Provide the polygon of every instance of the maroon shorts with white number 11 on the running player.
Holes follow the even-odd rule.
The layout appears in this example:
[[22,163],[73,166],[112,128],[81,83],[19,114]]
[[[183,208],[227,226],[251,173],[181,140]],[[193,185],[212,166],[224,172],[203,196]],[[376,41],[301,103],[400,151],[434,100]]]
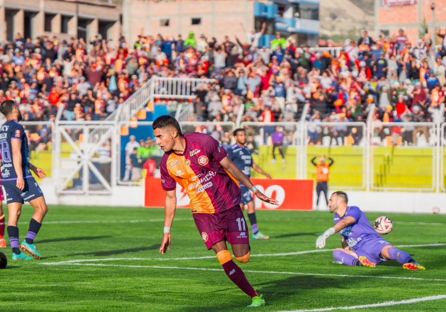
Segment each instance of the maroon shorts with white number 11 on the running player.
[[220,240],[231,245],[249,244],[248,224],[237,205],[218,214],[193,214],[198,232],[208,249]]

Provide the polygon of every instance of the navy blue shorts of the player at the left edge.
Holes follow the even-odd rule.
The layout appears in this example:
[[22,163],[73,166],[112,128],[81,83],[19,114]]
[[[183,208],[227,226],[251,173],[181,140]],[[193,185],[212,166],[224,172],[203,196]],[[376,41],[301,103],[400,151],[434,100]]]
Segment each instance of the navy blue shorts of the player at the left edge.
[[5,188],[6,203],[24,203],[35,198],[43,196],[42,190],[40,190],[39,184],[34,177],[27,177],[25,180],[25,187],[23,191],[19,190],[16,186],[17,180],[2,180],[2,185]]

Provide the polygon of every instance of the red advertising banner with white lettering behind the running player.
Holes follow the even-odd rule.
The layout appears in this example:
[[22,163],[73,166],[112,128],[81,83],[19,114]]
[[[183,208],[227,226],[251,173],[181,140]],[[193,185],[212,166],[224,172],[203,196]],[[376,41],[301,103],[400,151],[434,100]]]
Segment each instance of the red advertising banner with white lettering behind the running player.
[[[277,199],[279,206],[262,202],[254,196],[255,209],[268,210],[312,210],[313,180],[252,178],[255,187],[268,197]],[[161,178],[147,176],[145,178],[144,207],[164,207],[166,192],[161,187]],[[189,197],[186,191],[176,185],[176,207],[189,208]]]

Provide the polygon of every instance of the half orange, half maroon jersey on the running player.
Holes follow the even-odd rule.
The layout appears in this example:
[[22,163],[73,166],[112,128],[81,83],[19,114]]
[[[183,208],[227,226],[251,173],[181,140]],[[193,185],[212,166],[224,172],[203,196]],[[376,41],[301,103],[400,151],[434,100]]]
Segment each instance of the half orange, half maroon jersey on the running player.
[[159,166],[161,184],[173,191],[176,182],[184,187],[191,199],[192,213],[221,213],[240,204],[240,187],[220,161],[228,155],[213,137],[193,132],[185,134],[183,154],[164,154]]

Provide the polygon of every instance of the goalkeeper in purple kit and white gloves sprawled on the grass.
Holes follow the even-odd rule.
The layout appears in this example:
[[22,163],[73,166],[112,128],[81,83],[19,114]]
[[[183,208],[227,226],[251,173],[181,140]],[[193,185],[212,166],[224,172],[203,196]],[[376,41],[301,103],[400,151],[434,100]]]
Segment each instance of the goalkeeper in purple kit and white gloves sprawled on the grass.
[[325,231],[316,240],[316,248],[324,248],[330,235],[339,232],[342,248],[333,251],[338,263],[349,266],[374,268],[387,260],[398,260],[406,270],[425,270],[410,254],[396,249],[382,238],[368,222],[368,218],[356,206],[347,206],[346,193],[338,191],[330,196],[330,213],[334,213],[334,226]]

